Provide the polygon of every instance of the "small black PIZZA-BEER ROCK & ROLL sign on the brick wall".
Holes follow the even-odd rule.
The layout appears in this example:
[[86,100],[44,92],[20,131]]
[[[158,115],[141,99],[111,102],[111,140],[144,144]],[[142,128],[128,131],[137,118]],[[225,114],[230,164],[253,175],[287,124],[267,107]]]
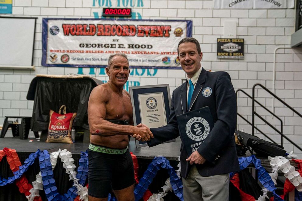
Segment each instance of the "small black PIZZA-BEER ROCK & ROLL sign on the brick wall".
[[243,59],[244,39],[241,38],[217,38],[218,59]]

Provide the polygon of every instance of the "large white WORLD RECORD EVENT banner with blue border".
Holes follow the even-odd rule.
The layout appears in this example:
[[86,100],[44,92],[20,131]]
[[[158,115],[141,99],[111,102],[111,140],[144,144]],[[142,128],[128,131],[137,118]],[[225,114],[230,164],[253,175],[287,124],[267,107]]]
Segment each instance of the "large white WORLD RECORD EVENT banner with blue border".
[[191,20],[43,18],[43,66],[105,68],[126,54],[132,68],[181,68],[177,45]]

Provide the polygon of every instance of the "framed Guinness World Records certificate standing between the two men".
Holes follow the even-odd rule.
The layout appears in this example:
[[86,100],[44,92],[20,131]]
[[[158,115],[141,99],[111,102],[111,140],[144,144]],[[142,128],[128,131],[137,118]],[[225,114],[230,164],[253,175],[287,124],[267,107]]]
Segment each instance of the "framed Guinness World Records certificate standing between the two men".
[[[149,128],[167,125],[171,105],[168,84],[129,87],[129,93],[133,106],[134,126],[140,123],[146,124]],[[147,143],[135,140],[135,146],[145,147]]]

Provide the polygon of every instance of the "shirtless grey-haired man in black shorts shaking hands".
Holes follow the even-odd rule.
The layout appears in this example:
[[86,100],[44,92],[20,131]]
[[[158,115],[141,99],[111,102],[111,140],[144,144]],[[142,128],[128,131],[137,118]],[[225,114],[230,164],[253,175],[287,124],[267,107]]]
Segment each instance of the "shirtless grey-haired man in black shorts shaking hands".
[[90,94],[90,201],[107,201],[111,188],[118,201],[134,201],[135,180],[132,157],[128,150],[129,136],[137,134],[145,141],[150,140],[153,135],[146,127],[132,126],[130,96],[123,90],[129,72],[129,62],[125,54],[110,55],[106,68],[109,81],[93,88]]

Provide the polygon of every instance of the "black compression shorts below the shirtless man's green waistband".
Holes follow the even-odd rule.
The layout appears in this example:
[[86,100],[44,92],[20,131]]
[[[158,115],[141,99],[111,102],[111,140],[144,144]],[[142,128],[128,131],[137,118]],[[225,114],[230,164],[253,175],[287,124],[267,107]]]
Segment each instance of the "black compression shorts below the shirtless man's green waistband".
[[105,154],[88,149],[88,195],[106,198],[114,190],[134,184],[133,161],[129,150],[124,154]]

